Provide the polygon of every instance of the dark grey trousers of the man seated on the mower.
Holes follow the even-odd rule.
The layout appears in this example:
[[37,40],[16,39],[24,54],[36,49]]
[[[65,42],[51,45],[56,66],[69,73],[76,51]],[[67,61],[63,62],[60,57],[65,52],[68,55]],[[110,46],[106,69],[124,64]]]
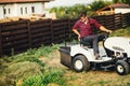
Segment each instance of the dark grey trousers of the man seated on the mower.
[[81,38],[81,44],[89,44],[94,49],[94,54],[96,54],[99,53],[99,41],[102,41],[104,38],[104,34],[87,35]]

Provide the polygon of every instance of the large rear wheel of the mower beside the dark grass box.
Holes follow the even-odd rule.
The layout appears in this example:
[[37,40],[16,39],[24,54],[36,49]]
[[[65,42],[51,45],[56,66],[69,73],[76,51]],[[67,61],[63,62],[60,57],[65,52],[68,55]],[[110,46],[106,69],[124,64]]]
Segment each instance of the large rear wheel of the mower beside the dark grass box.
[[90,69],[90,62],[83,55],[77,55],[73,59],[73,69],[77,72],[88,71]]

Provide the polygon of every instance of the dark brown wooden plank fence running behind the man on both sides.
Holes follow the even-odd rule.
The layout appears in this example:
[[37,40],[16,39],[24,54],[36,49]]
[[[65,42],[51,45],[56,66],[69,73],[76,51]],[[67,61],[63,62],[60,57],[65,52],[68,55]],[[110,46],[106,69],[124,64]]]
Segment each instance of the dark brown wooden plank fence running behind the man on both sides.
[[[130,13],[95,16],[99,23],[109,29],[130,26]],[[72,27],[77,19],[20,20],[0,24],[0,55],[25,52],[41,44],[51,45],[76,39]]]

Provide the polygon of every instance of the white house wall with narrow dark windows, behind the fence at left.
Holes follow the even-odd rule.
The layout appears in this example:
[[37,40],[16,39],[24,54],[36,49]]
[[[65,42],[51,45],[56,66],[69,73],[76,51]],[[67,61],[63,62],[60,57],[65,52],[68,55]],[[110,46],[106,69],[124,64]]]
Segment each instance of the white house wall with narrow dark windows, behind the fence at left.
[[0,5],[0,18],[14,16],[28,16],[32,13],[42,14],[44,12],[44,3],[13,3]]

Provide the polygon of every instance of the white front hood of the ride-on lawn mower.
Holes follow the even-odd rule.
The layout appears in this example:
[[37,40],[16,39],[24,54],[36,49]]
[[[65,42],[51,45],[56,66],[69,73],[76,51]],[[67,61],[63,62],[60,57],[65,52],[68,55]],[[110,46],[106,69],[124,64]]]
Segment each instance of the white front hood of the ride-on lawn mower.
[[113,51],[116,54],[121,55],[126,53],[130,57],[130,38],[125,37],[112,37],[106,39],[104,47]]

